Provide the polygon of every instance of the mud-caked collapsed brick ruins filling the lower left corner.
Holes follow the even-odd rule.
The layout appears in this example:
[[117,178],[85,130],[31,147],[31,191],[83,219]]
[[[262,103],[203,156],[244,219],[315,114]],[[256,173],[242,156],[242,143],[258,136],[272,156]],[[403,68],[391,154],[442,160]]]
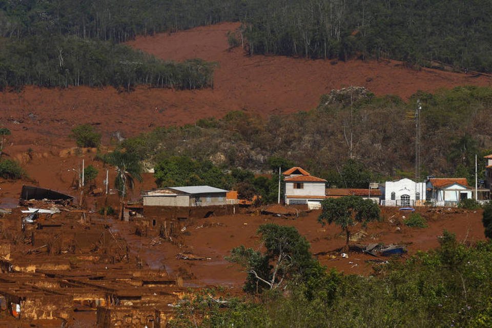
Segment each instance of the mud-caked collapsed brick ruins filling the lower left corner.
[[[182,279],[142,268],[111,219],[84,216],[62,211],[23,224],[14,209],[0,218],[0,326],[157,328],[172,318],[189,291]],[[141,217],[135,226],[169,237],[180,222]]]

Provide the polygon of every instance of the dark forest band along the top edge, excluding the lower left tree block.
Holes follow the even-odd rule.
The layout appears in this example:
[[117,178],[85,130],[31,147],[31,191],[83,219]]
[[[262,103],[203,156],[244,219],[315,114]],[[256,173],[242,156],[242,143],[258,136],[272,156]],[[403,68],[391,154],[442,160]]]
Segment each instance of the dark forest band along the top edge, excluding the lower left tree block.
[[138,34],[240,21],[251,54],[392,58],[492,71],[492,1],[105,0],[0,1],[0,36]]

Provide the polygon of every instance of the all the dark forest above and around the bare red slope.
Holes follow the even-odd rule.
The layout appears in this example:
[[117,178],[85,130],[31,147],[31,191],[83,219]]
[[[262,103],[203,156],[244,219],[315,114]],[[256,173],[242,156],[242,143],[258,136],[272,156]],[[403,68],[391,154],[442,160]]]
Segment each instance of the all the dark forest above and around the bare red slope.
[[210,63],[167,63],[115,43],[223,21],[243,23],[228,39],[250,54],[393,58],[490,72],[490,11],[490,1],[457,0],[0,1],[0,88],[210,87]]

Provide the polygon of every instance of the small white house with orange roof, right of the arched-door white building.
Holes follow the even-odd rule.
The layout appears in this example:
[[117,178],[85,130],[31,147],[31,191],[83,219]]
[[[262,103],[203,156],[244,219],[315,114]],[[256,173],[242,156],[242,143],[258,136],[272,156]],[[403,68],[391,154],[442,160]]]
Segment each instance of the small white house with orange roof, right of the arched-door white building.
[[456,206],[460,200],[472,198],[466,178],[430,178],[427,199],[436,206]]

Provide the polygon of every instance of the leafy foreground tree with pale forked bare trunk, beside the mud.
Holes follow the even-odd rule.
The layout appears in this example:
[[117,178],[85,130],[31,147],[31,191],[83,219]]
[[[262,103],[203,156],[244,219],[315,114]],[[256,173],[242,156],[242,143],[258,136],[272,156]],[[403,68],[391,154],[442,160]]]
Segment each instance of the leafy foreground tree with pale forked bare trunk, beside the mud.
[[306,281],[311,277],[310,273],[315,273],[311,268],[317,261],[309,251],[309,242],[294,227],[267,223],[262,224],[257,233],[261,235],[266,252],[241,245],[231,250],[231,256],[227,257],[248,273],[245,291],[278,289],[288,281]]

